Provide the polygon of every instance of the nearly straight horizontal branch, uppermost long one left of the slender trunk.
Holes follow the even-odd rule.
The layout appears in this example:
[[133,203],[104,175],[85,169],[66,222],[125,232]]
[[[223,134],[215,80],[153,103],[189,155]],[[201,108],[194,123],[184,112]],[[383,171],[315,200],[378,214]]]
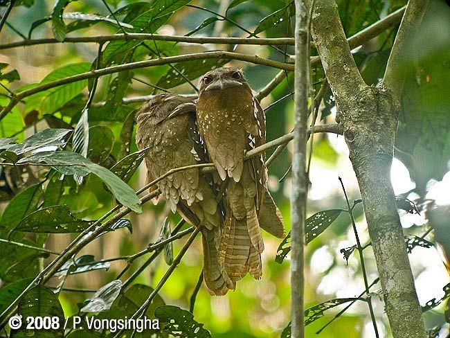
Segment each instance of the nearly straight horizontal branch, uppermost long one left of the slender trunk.
[[[183,35],[157,35],[145,33],[127,33],[116,35],[97,35],[92,37],[66,37],[62,42],[76,44],[76,43],[93,43],[105,44],[109,41],[167,41],[167,42],[181,42],[187,44],[253,44],[253,45],[294,45],[294,39],[291,37],[277,37],[277,38],[246,38],[246,37],[187,37]],[[57,39],[26,39],[9,44],[0,44],[1,49],[16,48],[23,46],[36,46],[39,44],[57,44],[61,43]]]

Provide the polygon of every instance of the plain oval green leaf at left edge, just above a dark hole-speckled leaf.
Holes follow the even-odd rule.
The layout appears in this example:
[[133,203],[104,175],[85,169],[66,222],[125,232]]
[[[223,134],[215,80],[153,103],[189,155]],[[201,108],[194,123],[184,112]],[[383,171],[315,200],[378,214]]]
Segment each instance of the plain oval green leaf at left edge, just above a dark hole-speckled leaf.
[[1,216],[0,224],[8,229],[14,229],[22,218],[36,210],[42,196],[42,185],[30,186],[16,195],[6,206]]

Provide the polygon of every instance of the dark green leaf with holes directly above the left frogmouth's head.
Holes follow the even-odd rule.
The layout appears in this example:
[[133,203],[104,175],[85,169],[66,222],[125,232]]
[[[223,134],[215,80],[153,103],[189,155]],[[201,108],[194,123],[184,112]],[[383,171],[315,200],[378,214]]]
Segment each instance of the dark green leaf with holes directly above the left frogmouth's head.
[[[174,64],[174,68],[169,69],[168,72],[159,79],[156,86],[165,89],[177,87],[179,84],[186,83],[186,78],[188,80],[195,80],[200,75],[203,75],[206,70],[219,68],[226,64],[226,62],[228,61],[214,59],[179,62]],[[175,71],[175,69],[177,69],[177,71]],[[183,76],[179,73],[183,74]]]

